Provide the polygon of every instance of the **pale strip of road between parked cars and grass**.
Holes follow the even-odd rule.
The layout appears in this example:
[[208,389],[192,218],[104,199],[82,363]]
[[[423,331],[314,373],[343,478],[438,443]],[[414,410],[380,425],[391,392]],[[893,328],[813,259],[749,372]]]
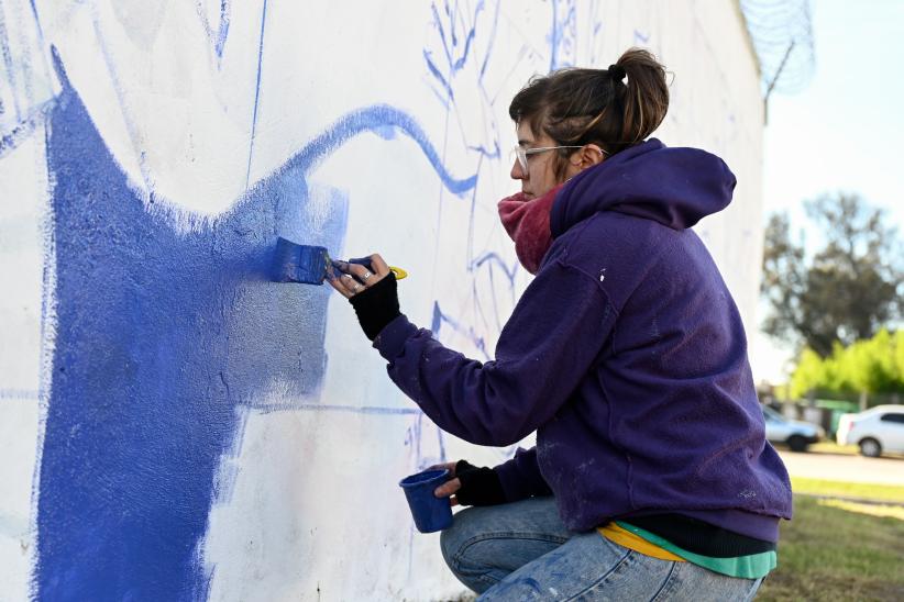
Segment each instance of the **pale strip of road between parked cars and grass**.
[[904,458],[866,458],[845,454],[778,449],[789,475],[809,479],[904,487]]

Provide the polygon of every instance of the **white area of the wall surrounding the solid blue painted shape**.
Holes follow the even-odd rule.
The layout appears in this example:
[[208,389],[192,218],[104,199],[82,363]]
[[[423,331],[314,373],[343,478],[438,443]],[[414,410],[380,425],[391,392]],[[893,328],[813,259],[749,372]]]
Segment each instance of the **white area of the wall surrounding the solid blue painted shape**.
[[[216,231],[255,191],[266,196],[267,182],[285,172],[287,161],[344,115],[385,104],[412,118],[437,160],[401,127],[313,145],[321,153],[306,172],[308,191],[298,192],[305,213],[293,227],[309,236],[299,242],[316,242],[318,224],[344,215],[342,247],[334,254],[379,252],[405,267],[410,278],[400,285],[403,311],[429,327],[438,306],[448,317],[438,337],[482,359],[492,357],[500,326],[529,281],[495,210],[499,198],[518,188],[507,176],[515,144],[509,100],[533,74],[566,65],[605,68],[631,45],[649,47],[674,73],[671,110],[657,136],[668,145],[715,152],[738,176],[735,202],[697,232],[752,331],[763,113],[756,59],[736,3],[450,4],[0,5],[0,441],[7,443],[0,462],[0,600],[21,600],[30,587],[49,588],[54,571],[69,568],[47,549],[47,542],[67,536],[59,522],[46,523],[51,534],[37,551],[45,528],[37,516],[42,454],[75,445],[60,442],[57,430],[44,441],[47,416],[55,415],[54,361],[63,357],[55,346],[56,306],[69,303],[56,283],[56,243],[67,237],[57,221],[65,212],[57,179],[63,176],[45,149],[53,146],[47,141],[58,140],[52,135],[65,134],[70,113],[55,102],[69,97],[60,97],[67,83],[54,75],[52,46],[147,220],[163,220],[185,241]],[[439,177],[443,169],[455,180],[476,176],[476,185],[455,193]],[[148,255],[155,246],[153,239],[117,244]],[[229,255],[230,248],[211,245],[210,253]],[[129,286],[142,292],[140,282]],[[264,305],[283,294],[264,285],[243,286],[242,294],[260,293]],[[165,294],[165,288],[157,292]],[[86,291],[87,299],[91,294]],[[239,297],[229,299],[239,305]],[[80,308],[75,317],[59,316],[66,336],[81,337],[82,349],[104,346],[90,331],[71,334],[79,312],[90,311],[74,306]],[[495,464],[512,449],[478,449],[441,435],[394,389],[348,303],[333,294],[324,311],[324,343],[317,353],[326,368],[317,387],[299,392],[290,376],[274,374],[253,389],[253,399],[234,400],[235,426],[213,458],[219,468],[205,486],[211,504],[196,542],[198,570],[209,581],[184,591],[205,591],[216,600],[455,597],[463,589],[442,564],[438,536],[414,532],[396,482],[443,458]],[[289,346],[300,330],[319,327],[273,326]],[[141,328],[122,332],[123,341],[142,336]],[[220,335],[209,336],[216,344]],[[253,368],[255,358],[241,349],[229,353],[230,366]],[[93,398],[79,401],[91,404]],[[199,423],[188,432],[208,428]],[[148,428],[146,435],[165,433]],[[55,491],[66,489],[54,484]],[[95,587],[88,576],[75,583],[85,591]],[[122,594],[128,586],[110,591]]]

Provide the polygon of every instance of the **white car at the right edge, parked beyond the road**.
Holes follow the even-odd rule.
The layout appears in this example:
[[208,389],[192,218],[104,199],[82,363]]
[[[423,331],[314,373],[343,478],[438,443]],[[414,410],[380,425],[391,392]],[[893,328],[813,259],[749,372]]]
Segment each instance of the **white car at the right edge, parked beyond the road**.
[[904,452],[904,405],[877,405],[859,414],[842,414],[836,432],[838,445],[859,445],[871,458],[882,452]]

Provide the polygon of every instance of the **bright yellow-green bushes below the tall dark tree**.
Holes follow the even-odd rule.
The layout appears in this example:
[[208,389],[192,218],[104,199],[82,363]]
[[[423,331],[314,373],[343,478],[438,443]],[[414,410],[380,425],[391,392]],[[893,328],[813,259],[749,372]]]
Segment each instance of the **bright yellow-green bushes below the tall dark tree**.
[[836,343],[830,356],[805,348],[791,377],[791,394],[904,392],[904,331],[881,330],[847,347]]

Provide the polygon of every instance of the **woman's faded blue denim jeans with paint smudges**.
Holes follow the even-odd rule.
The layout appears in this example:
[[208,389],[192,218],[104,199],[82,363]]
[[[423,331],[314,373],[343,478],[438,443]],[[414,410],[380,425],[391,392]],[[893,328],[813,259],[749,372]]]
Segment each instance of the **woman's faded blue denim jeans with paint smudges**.
[[478,600],[752,600],[762,579],[660,560],[565,528],[552,497],[468,508],[440,538],[442,555]]

